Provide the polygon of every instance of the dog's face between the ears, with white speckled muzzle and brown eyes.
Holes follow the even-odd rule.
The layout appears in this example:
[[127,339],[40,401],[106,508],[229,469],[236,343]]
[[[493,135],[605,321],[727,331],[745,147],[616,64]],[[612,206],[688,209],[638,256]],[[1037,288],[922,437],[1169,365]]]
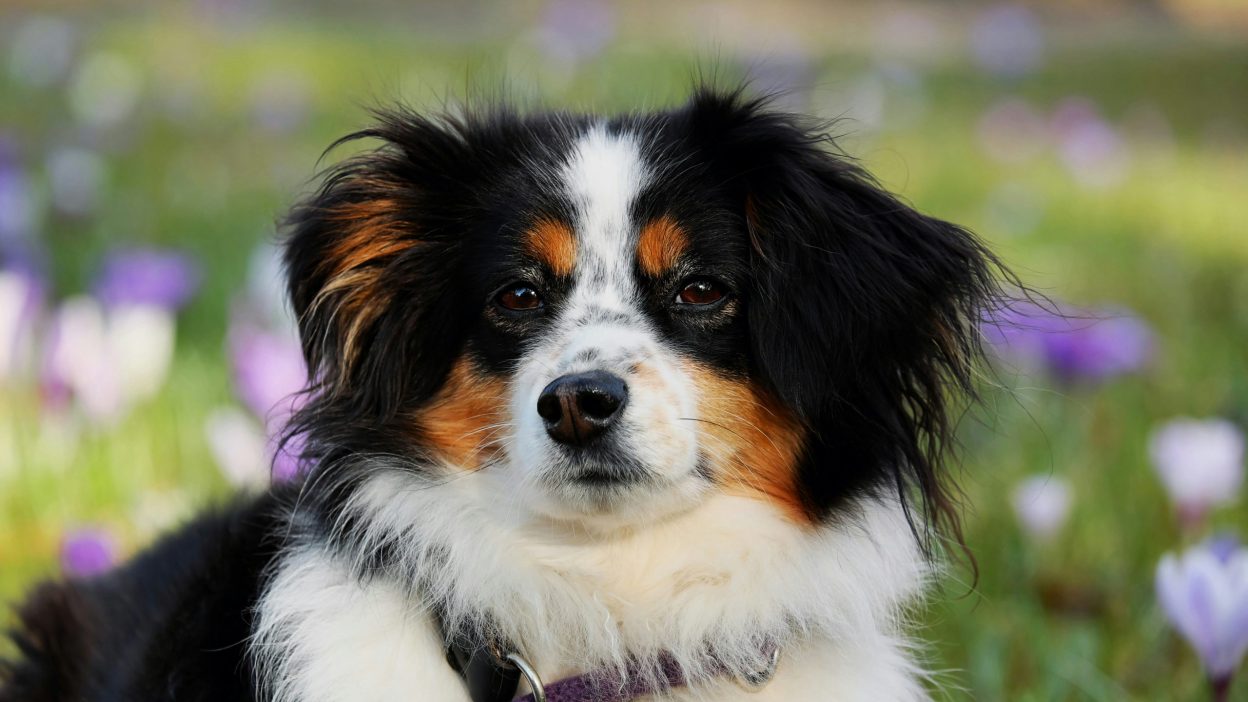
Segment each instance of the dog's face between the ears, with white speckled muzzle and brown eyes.
[[645,136],[579,134],[547,165],[560,206],[508,237],[518,251],[485,302],[500,339],[480,347],[509,378],[500,473],[554,517],[634,521],[711,486],[796,507],[766,476],[799,428],[759,416],[746,372],[740,222],[719,194],[665,174]]

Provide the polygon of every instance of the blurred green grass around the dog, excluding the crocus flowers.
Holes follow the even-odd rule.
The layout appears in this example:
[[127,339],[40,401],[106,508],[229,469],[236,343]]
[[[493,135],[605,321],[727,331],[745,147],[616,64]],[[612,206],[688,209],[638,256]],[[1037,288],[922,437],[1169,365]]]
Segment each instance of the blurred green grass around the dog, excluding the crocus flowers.
[[[45,222],[57,287],[81,290],[100,252],[136,241],[191,250],[206,284],[181,320],[166,390],[115,430],[70,441],[40,420],[32,390],[0,392],[4,601],[56,572],[70,526],[105,525],[132,552],[226,493],[202,425],[230,401],[222,350],[231,296],[255,242],[307,187],[321,149],[366,122],[362,106],[396,95],[437,106],[466,85],[489,94],[503,75],[522,96],[543,85],[532,56],[414,45],[382,27],[317,21],[226,35],[168,17],[131,20],[104,25],[87,46],[132,60],[145,92],[127,136],[105,145],[110,180],[97,215]],[[610,51],[559,89],[542,90],[542,102],[670,104],[695,64],[666,50]],[[835,92],[865,65],[854,55],[820,60],[816,94]],[[281,135],[255,126],[248,100],[258,66],[303,76],[306,124]],[[1015,85],[957,60],[917,69],[925,110],[880,132],[842,124],[847,149],[921,209],[980,231],[1027,281],[1076,302],[1127,305],[1159,337],[1157,363],[1137,377],[1096,388],[1043,378],[987,388],[962,435],[962,482],[973,506],[967,537],[980,578],[972,588],[967,572],[952,571],[927,607],[932,667],[965,688],[953,698],[1199,698],[1198,665],[1166,627],[1152,592],[1159,556],[1194,537],[1181,533],[1146,441],[1176,415],[1248,418],[1248,49],[1182,35],[1072,44]],[[60,91],[5,80],[0,125],[34,154],[64,137],[70,117]],[[178,91],[195,96],[188,110],[160,107]],[[976,122],[1003,95],[1046,111],[1082,95],[1114,122],[1144,106],[1166,115],[1172,137],[1128,137],[1127,179],[1087,190],[1051,154],[1016,166],[986,159]],[[1238,147],[1209,136],[1219,124],[1238,129]],[[1003,182],[1041,202],[1030,231],[996,231],[986,216],[986,199]],[[1075,490],[1070,523],[1050,543],[1018,532],[1007,500],[1033,473],[1063,476]],[[1224,510],[1216,523],[1248,533],[1243,510]],[[1248,696],[1248,685],[1237,692]]]

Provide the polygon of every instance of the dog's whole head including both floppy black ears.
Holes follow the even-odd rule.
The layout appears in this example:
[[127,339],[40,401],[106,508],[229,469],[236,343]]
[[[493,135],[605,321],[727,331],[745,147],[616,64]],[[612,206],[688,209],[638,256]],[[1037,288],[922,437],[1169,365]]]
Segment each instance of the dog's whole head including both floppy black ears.
[[615,119],[388,112],[300,206],[313,471],[480,471],[630,525],[730,492],[795,522],[917,492],[970,390],[995,262],[738,94]]

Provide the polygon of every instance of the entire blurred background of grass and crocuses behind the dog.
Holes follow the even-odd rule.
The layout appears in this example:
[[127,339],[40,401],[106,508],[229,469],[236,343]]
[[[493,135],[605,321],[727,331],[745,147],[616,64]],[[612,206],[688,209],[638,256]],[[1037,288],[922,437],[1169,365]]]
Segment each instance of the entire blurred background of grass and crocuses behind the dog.
[[0,0],[0,601],[290,477],[275,225],[368,106],[699,75],[837,119],[1068,315],[985,320],[941,697],[1248,700],[1244,0]]

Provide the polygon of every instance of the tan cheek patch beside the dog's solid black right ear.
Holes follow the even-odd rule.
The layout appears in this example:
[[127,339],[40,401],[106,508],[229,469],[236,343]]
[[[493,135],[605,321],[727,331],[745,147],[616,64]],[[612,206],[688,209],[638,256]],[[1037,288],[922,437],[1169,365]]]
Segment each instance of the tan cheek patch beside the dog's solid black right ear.
[[700,442],[725,490],[761,497],[795,522],[811,518],[797,487],[805,430],[779,401],[754,383],[699,363],[689,372],[700,390]]

